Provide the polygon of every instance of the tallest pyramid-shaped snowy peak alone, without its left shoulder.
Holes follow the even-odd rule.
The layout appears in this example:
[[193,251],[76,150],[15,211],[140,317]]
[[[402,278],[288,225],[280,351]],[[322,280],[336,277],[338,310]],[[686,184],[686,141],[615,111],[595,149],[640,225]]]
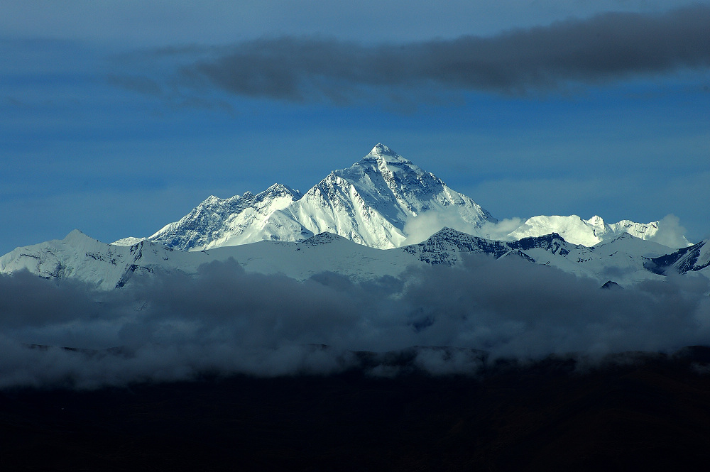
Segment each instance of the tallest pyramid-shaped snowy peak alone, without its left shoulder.
[[379,143],[350,168],[332,172],[283,213],[312,233],[329,231],[365,246],[393,248],[405,243],[410,219],[444,209],[474,228],[496,221],[472,199]]

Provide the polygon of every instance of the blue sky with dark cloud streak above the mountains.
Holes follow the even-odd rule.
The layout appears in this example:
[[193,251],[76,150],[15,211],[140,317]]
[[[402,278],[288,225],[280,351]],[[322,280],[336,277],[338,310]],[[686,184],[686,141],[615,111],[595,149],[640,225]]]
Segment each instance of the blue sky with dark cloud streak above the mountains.
[[710,237],[710,2],[5,0],[0,254],[305,191],[378,142],[498,219]]

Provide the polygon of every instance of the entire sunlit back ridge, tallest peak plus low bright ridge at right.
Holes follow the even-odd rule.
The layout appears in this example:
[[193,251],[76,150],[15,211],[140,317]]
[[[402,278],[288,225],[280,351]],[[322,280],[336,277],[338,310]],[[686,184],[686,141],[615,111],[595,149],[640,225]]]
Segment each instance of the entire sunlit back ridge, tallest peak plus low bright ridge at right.
[[[200,251],[256,241],[302,241],[330,232],[386,249],[423,241],[442,226],[487,238],[497,222],[470,197],[378,143],[364,158],[330,172],[303,194],[276,183],[258,194],[245,192],[227,199],[212,195],[147,239],[181,251]],[[568,242],[591,247],[623,233],[657,239],[659,225],[660,221],[642,224],[626,219],[606,224],[596,215],[587,220],[577,215],[533,216],[499,239],[557,233]],[[114,244],[131,246],[141,239],[124,238]],[[674,247],[690,246],[683,236],[675,241]]]

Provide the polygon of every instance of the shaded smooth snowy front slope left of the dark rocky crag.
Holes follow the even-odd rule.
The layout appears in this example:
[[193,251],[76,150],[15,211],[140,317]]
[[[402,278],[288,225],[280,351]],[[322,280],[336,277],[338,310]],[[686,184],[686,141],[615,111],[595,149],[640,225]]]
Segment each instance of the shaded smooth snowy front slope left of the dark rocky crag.
[[248,272],[276,274],[305,280],[324,271],[353,280],[399,275],[422,261],[402,251],[368,248],[334,234],[318,234],[304,241],[260,241],[203,251],[177,251],[153,241],[115,246],[75,230],[62,240],[16,248],[0,257],[0,273],[20,270],[43,278],[80,280],[102,290],[120,288],[136,275],[197,273],[214,260],[236,260]]

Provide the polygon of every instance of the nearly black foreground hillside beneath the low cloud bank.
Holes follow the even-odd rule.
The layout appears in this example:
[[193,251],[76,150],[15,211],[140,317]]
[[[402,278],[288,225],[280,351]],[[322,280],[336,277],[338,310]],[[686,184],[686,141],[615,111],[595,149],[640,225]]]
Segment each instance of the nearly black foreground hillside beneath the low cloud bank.
[[205,378],[0,393],[13,471],[682,470],[710,460],[709,348],[483,375]]

